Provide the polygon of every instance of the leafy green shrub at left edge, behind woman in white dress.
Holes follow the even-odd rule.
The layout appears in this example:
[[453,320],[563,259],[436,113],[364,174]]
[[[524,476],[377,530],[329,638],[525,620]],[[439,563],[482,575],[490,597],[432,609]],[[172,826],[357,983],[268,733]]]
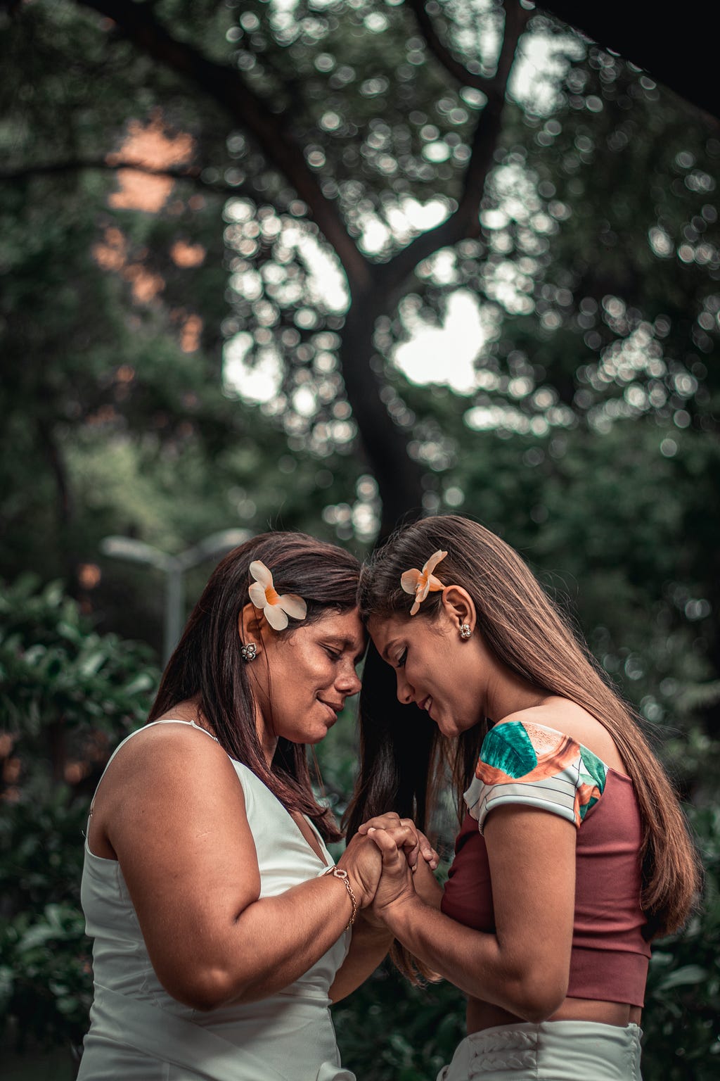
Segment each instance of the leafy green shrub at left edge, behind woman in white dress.
[[58,584],[0,589],[0,1030],[21,1046],[77,1044],[87,1027],[90,798],[157,681],[147,645],[98,635]]

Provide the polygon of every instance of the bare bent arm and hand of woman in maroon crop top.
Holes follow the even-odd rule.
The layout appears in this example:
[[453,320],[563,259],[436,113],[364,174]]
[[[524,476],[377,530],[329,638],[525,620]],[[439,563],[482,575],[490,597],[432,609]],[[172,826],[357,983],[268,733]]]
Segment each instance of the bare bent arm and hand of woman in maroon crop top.
[[575,885],[575,828],[518,805],[493,811],[485,826],[495,933],[463,926],[412,889],[402,853],[382,831],[373,910],[430,969],[467,995],[527,1020],[551,1016],[567,996]]

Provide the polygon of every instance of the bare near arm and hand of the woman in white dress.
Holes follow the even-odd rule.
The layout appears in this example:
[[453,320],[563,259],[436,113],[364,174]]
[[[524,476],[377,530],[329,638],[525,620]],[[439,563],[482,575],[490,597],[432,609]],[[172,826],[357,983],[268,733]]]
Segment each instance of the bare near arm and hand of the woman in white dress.
[[[255,843],[230,760],[203,733],[163,729],[123,748],[100,785],[94,817],[117,854],[168,993],[199,1010],[264,998],[338,939],[350,897],[326,876],[260,899]],[[357,839],[342,863],[367,904],[377,850]]]

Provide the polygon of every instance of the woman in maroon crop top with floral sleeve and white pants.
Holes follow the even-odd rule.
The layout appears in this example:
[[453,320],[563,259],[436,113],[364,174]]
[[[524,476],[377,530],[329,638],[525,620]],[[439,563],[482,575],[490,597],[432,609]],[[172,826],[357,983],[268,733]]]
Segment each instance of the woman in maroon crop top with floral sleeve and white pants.
[[[639,1079],[649,943],[699,885],[639,718],[517,552],[472,521],[402,530],[358,596],[377,653],[349,832],[383,853],[376,915],[425,976],[468,996],[438,1081]],[[448,768],[464,818],[441,891],[383,827],[425,828]]]

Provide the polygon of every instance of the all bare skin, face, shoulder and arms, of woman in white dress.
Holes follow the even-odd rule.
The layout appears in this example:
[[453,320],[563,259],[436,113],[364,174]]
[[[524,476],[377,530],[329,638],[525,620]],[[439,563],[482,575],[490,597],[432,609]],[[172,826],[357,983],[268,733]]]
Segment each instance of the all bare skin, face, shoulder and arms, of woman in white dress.
[[[239,649],[240,631],[244,641],[258,644],[252,672],[256,723],[268,760],[280,736],[317,743],[347,696],[359,689],[355,664],[365,633],[357,614],[329,613],[279,636],[247,605]],[[166,716],[202,723],[191,700],[178,703]],[[293,817],[320,855],[309,823],[301,815]],[[386,836],[404,853],[406,866],[408,858],[417,860],[420,841],[411,825],[397,824]],[[351,916],[345,886],[331,876],[279,897],[259,898],[242,786],[219,745],[190,725],[148,728],[120,750],[98,788],[89,844],[95,855],[119,860],[160,982],[194,1009],[254,1001],[281,990],[322,957]],[[379,850],[358,836],[339,865],[366,909],[380,876]],[[334,997],[353,990],[391,940],[379,921],[372,925],[361,916],[356,926]]]

